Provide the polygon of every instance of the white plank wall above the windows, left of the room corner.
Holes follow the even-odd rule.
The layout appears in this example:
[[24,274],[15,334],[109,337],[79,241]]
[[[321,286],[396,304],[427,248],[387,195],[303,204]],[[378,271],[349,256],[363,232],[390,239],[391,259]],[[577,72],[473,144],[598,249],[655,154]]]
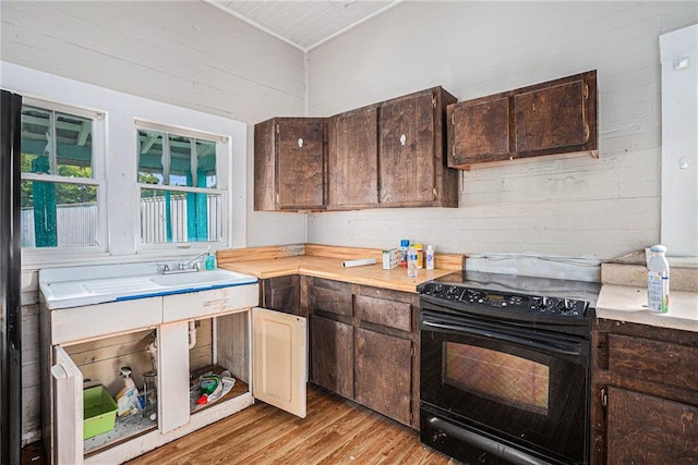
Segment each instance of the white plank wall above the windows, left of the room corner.
[[254,212],[252,131],[303,114],[303,53],[198,1],[2,1],[1,59],[248,124],[249,246],[305,240],[300,215]]

